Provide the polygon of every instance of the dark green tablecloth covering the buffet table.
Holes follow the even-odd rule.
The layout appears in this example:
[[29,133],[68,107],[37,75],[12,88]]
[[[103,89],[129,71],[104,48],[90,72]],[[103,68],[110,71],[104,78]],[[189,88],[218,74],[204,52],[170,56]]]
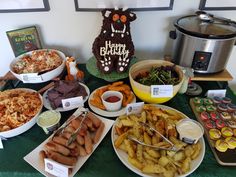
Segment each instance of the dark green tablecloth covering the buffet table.
[[[90,88],[90,92],[96,88],[107,84],[106,81],[98,79],[90,75],[86,71],[85,65],[80,65],[80,69],[85,72],[85,84]],[[126,83],[129,83],[128,79],[124,80]],[[17,87],[32,88],[39,90],[50,82],[43,84],[20,84]],[[203,93],[208,89],[218,89],[218,85],[215,82],[199,82],[199,84],[204,84]],[[12,84],[8,82],[5,85],[4,89],[12,88]],[[233,95],[230,89],[227,89],[227,97],[232,99],[232,102],[236,103],[236,96]],[[194,118],[194,114],[189,105],[190,97],[185,94],[177,94],[172,100],[167,102],[165,105],[173,107],[190,118]],[[85,104],[85,107],[88,107],[88,104]],[[45,111],[45,108],[44,110]],[[72,111],[63,112],[61,121],[65,121],[72,113]],[[115,119],[115,117],[114,117]],[[62,123],[61,122],[61,123]],[[37,177],[42,176],[36,169],[29,165],[26,161],[23,160],[23,157],[35,149],[41,142],[43,142],[49,135],[46,135],[43,130],[36,124],[27,132],[10,138],[7,141],[3,141],[4,149],[0,149],[0,177]],[[206,153],[203,159],[203,162],[199,168],[192,173],[190,176],[199,177],[229,177],[235,176],[236,168],[235,167],[226,167],[221,166],[215,160],[213,153],[210,150],[210,147],[206,143]],[[235,157],[236,158],[236,157]],[[135,173],[126,168],[122,162],[119,160],[115,151],[113,150],[111,143],[111,131],[105,136],[98,148],[93,152],[91,157],[86,161],[82,168],[76,173],[75,176],[81,177],[93,177],[93,176],[102,176],[102,177],[132,177],[137,176]]]

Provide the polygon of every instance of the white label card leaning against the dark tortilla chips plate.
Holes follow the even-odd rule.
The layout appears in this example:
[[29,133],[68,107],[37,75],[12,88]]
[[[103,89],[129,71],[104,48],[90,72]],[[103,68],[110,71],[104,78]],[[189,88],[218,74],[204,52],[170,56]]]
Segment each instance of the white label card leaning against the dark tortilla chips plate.
[[84,101],[82,96],[62,99],[62,107],[64,109],[78,108],[84,106]]

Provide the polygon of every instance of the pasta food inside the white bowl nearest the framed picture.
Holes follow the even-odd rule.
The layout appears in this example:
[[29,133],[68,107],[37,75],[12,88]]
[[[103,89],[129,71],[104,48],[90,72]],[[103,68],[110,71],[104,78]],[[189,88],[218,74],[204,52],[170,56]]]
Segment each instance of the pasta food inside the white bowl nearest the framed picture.
[[62,62],[55,50],[35,50],[30,55],[23,54],[12,69],[17,74],[44,73],[57,68]]

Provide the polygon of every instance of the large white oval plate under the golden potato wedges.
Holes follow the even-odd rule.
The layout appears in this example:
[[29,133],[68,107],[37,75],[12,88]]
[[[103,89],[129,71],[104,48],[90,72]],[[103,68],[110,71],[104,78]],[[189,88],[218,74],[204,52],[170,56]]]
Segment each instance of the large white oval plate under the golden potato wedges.
[[[172,110],[175,110],[171,107],[168,107],[168,106],[164,106],[164,105],[157,105],[158,107],[161,107],[163,109],[172,109]],[[177,111],[177,110],[175,110]],[[179,111],[177,111],[179,112]],[[181,112],[179,112],[181,113]],[[184,115],[183,113],[181,113],[184,117],[188,118],[186,115]],[[117,120],[117,119],[116,119]],[[135,168],[133,165],[131,165],[129,162],[128,162],[128,154],[120,149],[117,149],[114,145],[114,142],[116,140],[116,138],[118,137],[116,134],[115,134],[115,124],[117,122],[114,123],[113,127],[112,127],[112,131],[111,131],[111,140],[112,140],[112,145],[113,145],[113,148],[116,152],[116,155],[118,156],[118,158],[121,160],[121,162],[127,167],[129,168],[131,171],[133,171],[134,173],[140,175],[140,176],[143,176],[143,177],[160,177],[160,175],[155,175],[155,174],[146,174],[146,173],[143,173],[141,172],[139,169]],[[190,167],[190,170],[188,173],[186,174],[183,174],[183,175],[176,175],[176,177],[184,177],[184,176],[188,176],[190,175],[191,173],[193,173],[198,167],[199,165],[201,164],[203,158],[204,158],[204,155],[205,155],[205,142],[204,142],[204,138],[200,138],[200,144],[202,146],[201,148],[201,152],[200,154],[198,155],[198,157],[192,161],[191,163],[191,167]]]

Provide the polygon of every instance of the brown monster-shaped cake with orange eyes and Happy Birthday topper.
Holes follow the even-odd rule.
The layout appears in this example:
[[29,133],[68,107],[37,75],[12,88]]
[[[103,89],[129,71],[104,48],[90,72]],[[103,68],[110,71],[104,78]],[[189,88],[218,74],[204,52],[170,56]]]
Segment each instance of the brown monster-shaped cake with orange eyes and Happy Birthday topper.
[[101,33],[93,43],[97,67],[103,73],[125,72],[134,55],[130,22],[136,15],[128,9],[104,9]]

